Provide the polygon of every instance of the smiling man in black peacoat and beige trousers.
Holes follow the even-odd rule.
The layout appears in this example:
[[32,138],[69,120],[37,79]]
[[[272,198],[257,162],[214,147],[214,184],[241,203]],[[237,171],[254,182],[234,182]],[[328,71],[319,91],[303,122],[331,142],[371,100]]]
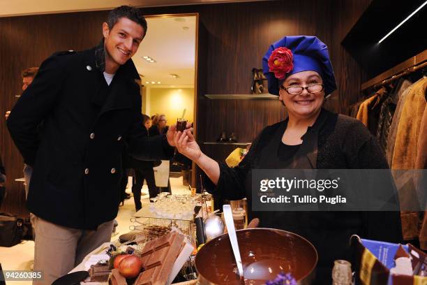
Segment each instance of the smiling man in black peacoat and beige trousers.
[[142,129],[139,75],[130,58],[146,32],[138,9],[112,10],[103,42],[46,59],[10,113],[10,134],[33,166],[27,207],[36,215],[34,270],[44,272],[37,284],[52,284],[110,241],[125,143],[139,159],[174,154],[174,126],[150,138]]

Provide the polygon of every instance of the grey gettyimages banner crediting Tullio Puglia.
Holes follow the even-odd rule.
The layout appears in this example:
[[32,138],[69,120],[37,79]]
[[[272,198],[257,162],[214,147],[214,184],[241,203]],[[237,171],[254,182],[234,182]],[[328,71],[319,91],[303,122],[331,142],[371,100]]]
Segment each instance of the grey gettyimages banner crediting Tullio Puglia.
[[[426,170],[252,170],[255,211],[424,211]],[[405,197],[405,198],[403,198]]]

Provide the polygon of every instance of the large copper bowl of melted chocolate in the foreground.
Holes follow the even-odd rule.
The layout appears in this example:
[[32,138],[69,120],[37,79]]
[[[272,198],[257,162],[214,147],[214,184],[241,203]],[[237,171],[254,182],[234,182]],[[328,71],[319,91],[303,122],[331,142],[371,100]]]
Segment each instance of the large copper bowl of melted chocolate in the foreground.
[[[298,284],[311,284],[317,251],[305,238],[274,228],[237,231],[245,284],[265,284],[280,272],[291,273]],[[236,284],[241,281],[227,234],[207,242],[197,253],[195,268],[200,284]]]

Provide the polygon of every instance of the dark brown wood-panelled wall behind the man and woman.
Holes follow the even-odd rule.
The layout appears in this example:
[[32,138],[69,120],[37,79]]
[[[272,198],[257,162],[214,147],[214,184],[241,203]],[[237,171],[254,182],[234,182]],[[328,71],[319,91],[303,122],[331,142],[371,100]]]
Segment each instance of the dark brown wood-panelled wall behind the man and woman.
[[[285,117],[277,101],[208,101],[203,94],[248,94],[251,69],[262,66],[269,44],[286,35],[315,35],[329,45],[339,85],[327,108],[345,110],[357,94],[361,71],[340,47],[370,0],[301,0],[160,7],[145,15],[200,13],[200,50],[197,75],[197,135],[201,142],[215,140],[224,129],[250,140],[263,126]],[[8,173],[8,199],[1,210],[26,214],[22,159],[10,140],[3,114],[20,94],[20,71],[38,66],[57,50],[82,50],[96,45],[107,11],[0,18],[0,154]],[[148,29],[148,32],[150,30]],[[222,114],[222,115],[218,115]],[[65,163],[65,162],[64,162]],[[47,205],[48,206],[48,205]]]

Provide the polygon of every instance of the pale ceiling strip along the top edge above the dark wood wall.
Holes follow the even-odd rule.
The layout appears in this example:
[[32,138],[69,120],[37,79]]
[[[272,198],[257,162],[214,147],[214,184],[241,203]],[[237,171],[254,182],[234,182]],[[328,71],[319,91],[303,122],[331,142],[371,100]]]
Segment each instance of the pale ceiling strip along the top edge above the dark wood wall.
[[260,0],[0,0],[0,17],[110,10],[121,5],[156,7],[253,1]]

